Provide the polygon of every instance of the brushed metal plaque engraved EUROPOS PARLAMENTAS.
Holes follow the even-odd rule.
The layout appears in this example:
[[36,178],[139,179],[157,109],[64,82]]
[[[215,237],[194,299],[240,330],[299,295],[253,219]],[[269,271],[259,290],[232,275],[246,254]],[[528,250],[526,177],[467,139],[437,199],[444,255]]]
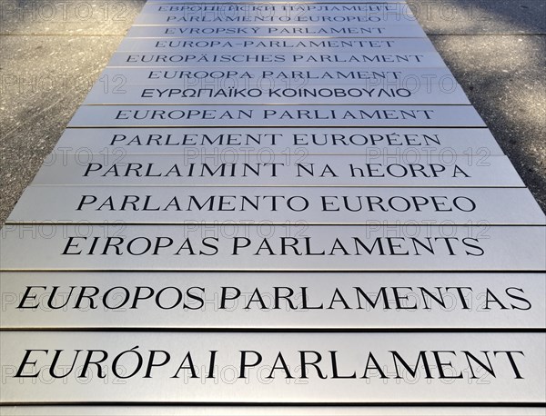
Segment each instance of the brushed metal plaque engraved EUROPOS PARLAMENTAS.
[[3,330],[546,325],[545,273],[3,272],[0,284]]

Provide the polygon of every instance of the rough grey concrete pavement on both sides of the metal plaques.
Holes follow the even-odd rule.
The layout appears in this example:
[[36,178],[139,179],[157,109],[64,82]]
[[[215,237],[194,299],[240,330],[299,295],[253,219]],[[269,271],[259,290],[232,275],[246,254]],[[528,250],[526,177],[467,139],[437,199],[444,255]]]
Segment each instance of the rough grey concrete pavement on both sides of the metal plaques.
[[[144,3],[0,1],[0,223]],[[409,3],[546,211],[546,0]]]

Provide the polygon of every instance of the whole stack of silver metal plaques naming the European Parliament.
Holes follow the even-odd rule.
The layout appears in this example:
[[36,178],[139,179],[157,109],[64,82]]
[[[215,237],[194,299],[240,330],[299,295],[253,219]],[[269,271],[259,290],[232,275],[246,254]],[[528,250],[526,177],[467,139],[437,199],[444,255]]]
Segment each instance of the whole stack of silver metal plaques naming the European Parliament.
[[150,0],[3,229],[2,412],[543,414],[544,221],[405,3]]

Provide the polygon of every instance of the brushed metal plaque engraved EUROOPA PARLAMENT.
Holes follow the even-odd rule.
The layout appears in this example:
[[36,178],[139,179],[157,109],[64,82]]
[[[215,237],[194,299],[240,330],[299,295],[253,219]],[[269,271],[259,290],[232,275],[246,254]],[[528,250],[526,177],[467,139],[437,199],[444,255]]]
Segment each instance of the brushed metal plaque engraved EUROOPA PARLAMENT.
[[96,86],[105,94],[124,94],[127,84],[174,84],[187,88],[218,87],[298,87],[314,84],[350,85],[376,88],[441,88],[454,91],[457,81],[447,67],[442,68],[106,68]]

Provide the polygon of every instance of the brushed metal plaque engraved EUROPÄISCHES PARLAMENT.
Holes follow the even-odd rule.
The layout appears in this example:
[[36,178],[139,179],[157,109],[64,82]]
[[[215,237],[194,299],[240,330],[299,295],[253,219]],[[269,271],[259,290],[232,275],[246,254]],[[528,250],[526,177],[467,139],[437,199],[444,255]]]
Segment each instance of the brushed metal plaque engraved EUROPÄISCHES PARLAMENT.
[[241,51],[234,52],[201,52],[187,51],[187,53],[153,53],[153,52],[116,52],[112,54],[109,66],[122,67],[217,67],[218,65],[231,66],[258,66],[258,67],[282,67],[292,68],[293,66],[324,66],[339,67],[355,65],[365,65],[367,68],[385,67],[389,65],[392,68],[404,67],[445,67],[438,52],[401,52],[399,54],[386,52],[383,54],[371,53],[326,53],[313,54],[303,52],[301,54],[293,53],[267,53],[260,52],[248,53]]

